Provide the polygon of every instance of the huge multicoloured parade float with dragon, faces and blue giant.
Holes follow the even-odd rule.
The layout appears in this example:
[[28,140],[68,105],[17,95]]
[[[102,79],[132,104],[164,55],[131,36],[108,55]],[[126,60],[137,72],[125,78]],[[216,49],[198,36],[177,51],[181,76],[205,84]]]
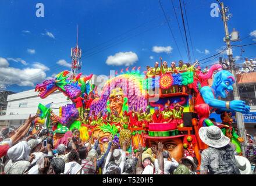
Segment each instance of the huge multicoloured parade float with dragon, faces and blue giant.
[[[99,138],[101,151],[108,147],[110,136],[120,145],[128,139],[130,153],[137,152],[139,144],[150,148],[161,141],[176,160],[193,156],[200,164],[200,151],[207,145],[200,140],[198,130],[216,125],[241,153],[239,143],[244,139],[234,132],[229,112],[246,113],[250,107],[243,101],[221,100],[233,90],[235,79],[229,71],[217,64],[202,73],[200,66],[195,65],[184,72],[164,70],[162,63],[161,67],[147,67],[143,73],[140,67],[131,71],[127,67],[106,81],[101,95],[97,86],[90,84],[93,74],[74,76],[70,71],[62,71],[37,84],[35,91],[44,99],[58,90],[72,101],[59,108],[59,116],[51,112],[55,140],[76,128],[84,142]],[[209,119],[211,112],[221,115],[223,123]]]

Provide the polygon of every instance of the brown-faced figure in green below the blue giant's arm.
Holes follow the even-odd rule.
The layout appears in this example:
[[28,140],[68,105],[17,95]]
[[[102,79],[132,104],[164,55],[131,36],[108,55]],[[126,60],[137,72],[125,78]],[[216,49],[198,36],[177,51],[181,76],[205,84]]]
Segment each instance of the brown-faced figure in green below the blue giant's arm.
[[232,123],[233,123],[232,113],[222,112],[221,120],[222,120],[222,124],[227,126],[226,128],[225,127],[221,128],[223,134],[226,135],[226,137],[228,137],[234,145],[236,145],[236,152],[239,155],[241,155],[240,142],[244,142],[244,138],[239,137],[239,135],[237,135],[236,131],[232,127]]

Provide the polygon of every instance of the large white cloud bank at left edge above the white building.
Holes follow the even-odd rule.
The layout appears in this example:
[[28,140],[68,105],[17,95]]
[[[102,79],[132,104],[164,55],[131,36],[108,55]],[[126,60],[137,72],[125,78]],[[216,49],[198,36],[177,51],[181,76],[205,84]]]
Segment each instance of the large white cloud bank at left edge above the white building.
[[18,69],[10,67],[9,63],[6,63],[5,58],[0,58],[1,64],[4,62],[4,66],[0,66],[0,84],[2,85],[19,85],[34,87],[36,83],[41,83],[45,80],[45,71],[37,67]]

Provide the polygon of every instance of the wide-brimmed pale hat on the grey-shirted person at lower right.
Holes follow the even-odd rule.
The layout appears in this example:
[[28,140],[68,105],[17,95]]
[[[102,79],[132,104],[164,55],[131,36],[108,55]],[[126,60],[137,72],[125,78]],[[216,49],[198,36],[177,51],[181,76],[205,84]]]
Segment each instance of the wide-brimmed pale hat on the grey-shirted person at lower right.
[[202,142],[214,148],[222,148],[230,142],[230,139],[216,126],[201,127],[199,129],[199,136]]

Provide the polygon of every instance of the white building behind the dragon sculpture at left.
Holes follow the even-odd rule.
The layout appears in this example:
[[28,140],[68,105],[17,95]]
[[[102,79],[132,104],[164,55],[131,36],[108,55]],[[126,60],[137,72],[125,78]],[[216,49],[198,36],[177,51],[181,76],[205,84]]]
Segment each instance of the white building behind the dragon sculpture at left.
[[[90,83],[98,86],[98,92],[100,94],[105,81],[104,78],[93,76]],[[39,103],[47,105],[52,102],[51,108],[58,116],[59,107],[67,103],[72,103],[67,100],[67,97],[61,91],[55,91],[47,98],[41,99],[38,97],[38,92],[35,92],[34,89],[9,95],[7,101],[6,115],[0,116],[0,129],[8,126],[19,127],[30,114],[31,116],[35,115]]]

